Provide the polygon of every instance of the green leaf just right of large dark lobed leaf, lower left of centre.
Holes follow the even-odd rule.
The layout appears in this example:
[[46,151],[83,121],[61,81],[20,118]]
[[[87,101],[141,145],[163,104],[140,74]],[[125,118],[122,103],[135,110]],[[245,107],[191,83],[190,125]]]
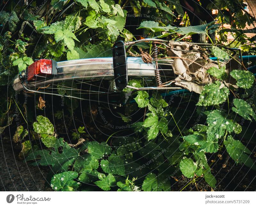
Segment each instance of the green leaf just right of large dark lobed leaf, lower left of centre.
[[102,142],[89,142],[88,144],[88,153],[90,153],[96,159],[103,158],[111,153],[112,149],[108,144]]

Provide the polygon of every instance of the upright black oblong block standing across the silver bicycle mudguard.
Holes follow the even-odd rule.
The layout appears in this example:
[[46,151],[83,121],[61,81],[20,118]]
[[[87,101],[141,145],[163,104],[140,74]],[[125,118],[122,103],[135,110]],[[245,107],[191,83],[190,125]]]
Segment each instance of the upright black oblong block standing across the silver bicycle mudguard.
[[117,89],[125,88],[128,84],[128,69],[123,41],[118,41],[113,46],[113,69]]

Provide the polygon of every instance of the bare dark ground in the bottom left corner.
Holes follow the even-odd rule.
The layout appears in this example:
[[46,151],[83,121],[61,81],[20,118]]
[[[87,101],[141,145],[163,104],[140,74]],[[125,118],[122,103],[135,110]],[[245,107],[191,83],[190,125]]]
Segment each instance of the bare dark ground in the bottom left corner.
[[[30,166],[18,158],[20,143],[2,137],[0,142],[0,191],[49,191],[47,168]],[[47,182],[46,182],[47,184]]]

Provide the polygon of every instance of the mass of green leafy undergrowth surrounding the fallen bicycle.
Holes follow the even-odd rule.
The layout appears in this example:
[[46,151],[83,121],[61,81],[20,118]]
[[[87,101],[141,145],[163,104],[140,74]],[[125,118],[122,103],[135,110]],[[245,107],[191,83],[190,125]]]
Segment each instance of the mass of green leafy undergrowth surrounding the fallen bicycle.
[[[250,66],[250,62],[238,64],[230,74],[220,64],[209,69],[214,81],[204,86],[200,96],[173,93],[165,97],[125,88],[124,96],[131,95],[125,107],[114,111],[117,119],[105,105],[65,99],[60,107],[62,100],[57,97],[24,97],[10,86],[12,78],[33,59],[111,56],[117,40],[157,37],[191,41],[191,35],[202,34],[212,43],[223,44],[230,32],[224,23],[234,32],[234,41],[228,46],[254,55],[254,39],[246,38],[241,28],[255,19],[243,12],[240,3],[208,4],[206,9],[215,6],[226,16],[219,12],[212,18],[218,24],[211,20],[195,26],[178,1],[2,2],[0,85],[5,96],[1,96],[1,138],[10,136],[14,144],[21,144],[19,157],[25,162],[49,166],[46,183],[57,191],[168,191],[173,181],[184,176],[189,181],[182,190],[202,179],[214,189],[218,185],[212,173],[214,163],[228,156],[233,161],[227,158],[227,162],[245,165],[255,173],[255,78],[243,65]],[[228,10],[230,5],[239,21]],[[185,27],[180,27],[181,22]],[[218,33],[220,39],[212,40],[212,33]],[[142,49],[152,55],[147,43],[130,51],[139,55]],[[217,57],[218,63],[230,57],[229,51],[215,46],[209,55]],[[237,88],[225,85],[226,78],[233,78]],[[134,87],[144,84],[143,79],[129,80]],[[9,135],[8,130],[13,132]]]

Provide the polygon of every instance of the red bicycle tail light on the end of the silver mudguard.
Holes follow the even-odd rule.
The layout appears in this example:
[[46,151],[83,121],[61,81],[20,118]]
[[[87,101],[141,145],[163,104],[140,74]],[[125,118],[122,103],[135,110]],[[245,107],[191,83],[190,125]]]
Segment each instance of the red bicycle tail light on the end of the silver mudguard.
[[27,80],[35,80],[36,76],[46,77],[52,74],[52,60],[41,59],[28,66]]

